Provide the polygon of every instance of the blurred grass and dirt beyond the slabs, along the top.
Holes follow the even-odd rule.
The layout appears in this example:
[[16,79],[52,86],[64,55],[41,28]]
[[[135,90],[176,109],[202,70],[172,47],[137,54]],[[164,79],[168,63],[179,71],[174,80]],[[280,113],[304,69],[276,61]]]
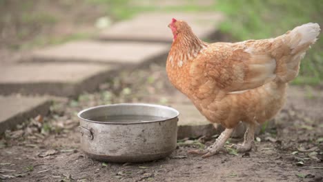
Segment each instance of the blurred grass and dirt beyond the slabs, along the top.
[[[94,36],[141,12],[223,12],[230,41],[276,37],[302,23],[323,25],[323,1],[302,0],[0,0],[0,58]],[[322,85],[323,39],[309,50],[294,84]]]

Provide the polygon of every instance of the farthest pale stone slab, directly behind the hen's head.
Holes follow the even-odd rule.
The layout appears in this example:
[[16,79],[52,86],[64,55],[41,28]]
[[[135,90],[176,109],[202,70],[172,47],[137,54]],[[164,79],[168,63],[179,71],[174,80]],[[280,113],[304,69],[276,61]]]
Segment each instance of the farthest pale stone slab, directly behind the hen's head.
[[110,28],[103,30],[98,38],[109,41],[171,43],[173,34],[168,28],[168,24],[172,18],[187,21],[197,37],[207,39],[215,34],[217,26],[224,19],[224,16],[217,12],[150,12],[139,14],[133,19],[117,22]]

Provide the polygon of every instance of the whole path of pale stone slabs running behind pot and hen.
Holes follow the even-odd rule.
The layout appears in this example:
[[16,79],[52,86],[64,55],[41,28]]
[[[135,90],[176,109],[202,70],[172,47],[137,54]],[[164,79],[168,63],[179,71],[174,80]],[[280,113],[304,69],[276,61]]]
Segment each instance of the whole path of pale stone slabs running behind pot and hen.
[[[139,14],[133,19],[115,23],[101,32],[98,39],[72,41],[35,50],[28,59],[1,65],[0,95],[20,93],[77,97],[82,92],[96,90],[99,83],[113,77],[120,69],[166,59],[172,42],[167,25],[172,18],[188,21],[202,39],[215,34],[217,24],[223,19],[222,14],[217,13]],[[36,97],[6,96],[0,101],[1,107],[6,108],[0,112],[0,133],[28,117],[34,117],[35,114],[29,114],[31,112],[41,114],[49,109],[48,100]],[[38,110],[39,107],[42,110]],[[184,136],[184,133],[187,136],[213,134],[214,129],[209,127],[210,124],[204,121],[193,105],[174,107],[182,112],[179,136]]]

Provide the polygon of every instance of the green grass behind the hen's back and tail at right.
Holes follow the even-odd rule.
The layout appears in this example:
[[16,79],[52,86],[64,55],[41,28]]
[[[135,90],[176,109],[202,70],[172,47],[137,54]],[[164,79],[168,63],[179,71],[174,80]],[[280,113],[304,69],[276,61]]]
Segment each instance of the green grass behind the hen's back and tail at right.
[[[308,22],[323,25],[323,1],[219,0],[215,7],[228,16],[220,26],[222,32],[237,41],[276,37]],[[323,39],[319,39],[307,52],[294,84],[322,85],[322,48]]]

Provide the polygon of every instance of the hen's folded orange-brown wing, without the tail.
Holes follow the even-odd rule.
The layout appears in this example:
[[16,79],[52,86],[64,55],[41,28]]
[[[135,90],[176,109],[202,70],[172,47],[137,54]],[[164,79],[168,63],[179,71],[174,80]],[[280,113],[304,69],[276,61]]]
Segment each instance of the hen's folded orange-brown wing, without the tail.
[[[262,49],[271,46],[269,41],[263,41]],[[210,88],[236,92],[273,81],[276,77],[275,59],[266,52],[251,54],[252,49],[245,43],[211,44],[190,67],[193,86],[199,85],[200,92]]]

